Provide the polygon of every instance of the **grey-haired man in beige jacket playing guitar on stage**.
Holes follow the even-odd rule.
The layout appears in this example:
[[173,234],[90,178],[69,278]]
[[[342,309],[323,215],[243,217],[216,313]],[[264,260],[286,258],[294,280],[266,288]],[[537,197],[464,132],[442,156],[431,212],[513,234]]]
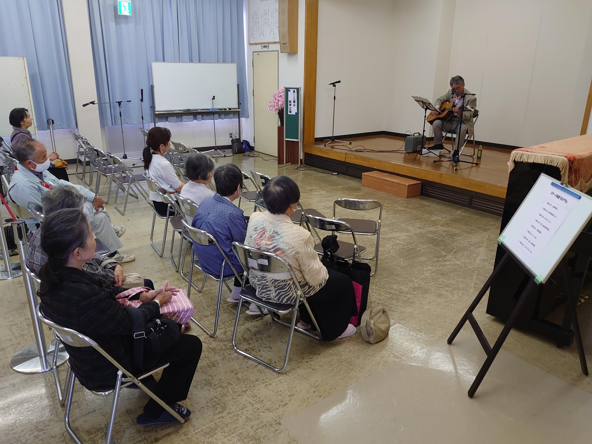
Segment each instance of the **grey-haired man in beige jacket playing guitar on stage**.
[[[454,131],[455,134],[458,134],[458,120],[461,115],[461,104],[462,104],[462,93],[469,93],[468,89],[465,89],[465,80],[461,76],[454,76],[450,79],[450,88],[446,91],[446,94],[437,98],[436,103],[434,104],[438,110],[440,110],[440,105],[443,102],[453,102],[454,108],[451,118],[446,121],[443,120],[436,120],[433,122],[433,131],[434,131],[434,146],[430,148],[430,150],[434,151],[441,151],[444,149],[442,145],[442,131],[447,131],[448,133]],[[465,96],[465,112],[462,113],[462,124],[461,124],[461,144],[465,139],[466,131],[469,131],[469,136],[473,133],[474,123],[473,123],[473,110],[477,106],[477,98],[474,95],[467,95]],[[436,111],[430,112],[430,117],[436,116]]]

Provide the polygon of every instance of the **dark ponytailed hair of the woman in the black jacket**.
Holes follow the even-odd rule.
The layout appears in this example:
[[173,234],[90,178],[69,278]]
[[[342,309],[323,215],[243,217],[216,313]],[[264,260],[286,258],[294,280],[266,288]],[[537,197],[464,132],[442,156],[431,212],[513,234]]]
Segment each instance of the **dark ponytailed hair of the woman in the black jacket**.
[[60,284],[57,273],[59,266],[65,266],[72,252],[86,247],[91,229],[86,216],[79,208],[65,208],[48,215],[41,224],[41,249],[47,255],[47,262],[39,271],[41,287],[39,297],[47,295]]

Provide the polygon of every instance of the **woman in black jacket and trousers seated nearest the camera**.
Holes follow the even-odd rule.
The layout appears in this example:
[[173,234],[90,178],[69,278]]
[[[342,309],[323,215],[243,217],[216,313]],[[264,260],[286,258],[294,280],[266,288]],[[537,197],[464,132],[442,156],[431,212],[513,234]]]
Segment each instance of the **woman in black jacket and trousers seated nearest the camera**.
[[[200,361],[200,339],[184,334],[162,355],[154,356],[155,363],[150,368],[136,368],[131,333],[133,315],[130,308],[115,299],[121,289],[101,285],[95,276],[82,271],[82,266],[94,257],[95,245],[91,226],[81,210],[57,210],[44,219],[41,248],[48,258],[39,273],[41,311],[55,323],[95,340],[115,361],[138,374],[170,363],[153,392],[181,417],[189,417],[191,411],[176,403],[187,398]],[[174,291],[165,281],[161,288],[142,293],[143,304],[138,309],[144,321],[159,318],[160,305],[168,302]],[[72,371],[82,385],[90,390],[113,385],[117,368],[94,348],[66,345],[66,349]],[[150,360],[145,354],[144,363]],[[144,406],[144,413],[137,417],[141,425],[172,422],[176,422],[175,418],[152,398]]]

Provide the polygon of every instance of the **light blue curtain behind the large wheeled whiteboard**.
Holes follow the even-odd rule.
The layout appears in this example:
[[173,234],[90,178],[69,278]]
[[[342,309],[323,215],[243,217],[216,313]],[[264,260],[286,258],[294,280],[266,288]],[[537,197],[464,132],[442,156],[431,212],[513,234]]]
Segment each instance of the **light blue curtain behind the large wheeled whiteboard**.
[[[153,120],[152,62],[237,63],[242,116],[249,116],[243,0],[135,1],[131,17],[118,15],[112,0],[88,0],[88,9],[98,99],[131,100],[122,105],[124,124],[141,123],[140,88],[144,121]],[[99,117],[102,125],[118,125],[118,105],[99,105]]]

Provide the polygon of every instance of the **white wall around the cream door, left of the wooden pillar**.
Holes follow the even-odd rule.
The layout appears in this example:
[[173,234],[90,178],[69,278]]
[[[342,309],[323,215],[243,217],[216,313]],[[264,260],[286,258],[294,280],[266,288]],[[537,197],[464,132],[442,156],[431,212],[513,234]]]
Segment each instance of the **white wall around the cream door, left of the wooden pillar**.
[[[254,117],[253,116],[253,52],[262,51],[260,44],[249,44],[249,0],[243,5],[244,15],[244,41],[247,57],[247,88],[249,95],[249,118],[243,118],[243,139],[253,143]],[[282,54],[278,57],[279,88],[283,86],[304,86],[304,8],[305,0],[298,0],[298,53]],[[279,52],[279,43],[269,44],[270,51]],[[266,50],[263,50],[266,51]],[[303,95],[306,94],[303,91]],[[272,97],[269,98],[271,101]],[[269,111],[273,112],[273,111]]]

